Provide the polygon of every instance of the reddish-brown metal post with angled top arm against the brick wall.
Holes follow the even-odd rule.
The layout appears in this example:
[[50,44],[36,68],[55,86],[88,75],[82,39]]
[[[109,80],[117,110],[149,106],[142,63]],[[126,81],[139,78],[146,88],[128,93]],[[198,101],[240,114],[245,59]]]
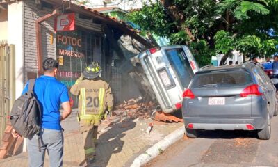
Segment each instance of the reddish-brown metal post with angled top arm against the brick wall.
[[44,15],[35,21],[35,35],[37,44],[37,60],[38,60],[38,76],[42,74],[42,31],[41,23],[52,16],[58,15],[58,9],[55,9],[51,14]]

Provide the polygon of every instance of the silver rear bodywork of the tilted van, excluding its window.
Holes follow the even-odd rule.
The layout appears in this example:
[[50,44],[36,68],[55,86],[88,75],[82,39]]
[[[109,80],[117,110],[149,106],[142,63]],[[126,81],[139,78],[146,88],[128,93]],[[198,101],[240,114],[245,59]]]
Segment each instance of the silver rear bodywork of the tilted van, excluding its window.
[[[175,104],[181,103],[182,93],[185,88],[181,85],[181,79],[174,72],[174,68],[165,55],[167,49],[183,49],[194,73],[199,70],[199,67],[188,47],[183,45],[161,47],[161,50],[156,51],[154,54],[145,51],[138,56],[147,79],[156,94],[156,100],[158,100],[165,113],[172,113],[176,109]],[[166,81],[163,81],[163,76],[166,78]]]

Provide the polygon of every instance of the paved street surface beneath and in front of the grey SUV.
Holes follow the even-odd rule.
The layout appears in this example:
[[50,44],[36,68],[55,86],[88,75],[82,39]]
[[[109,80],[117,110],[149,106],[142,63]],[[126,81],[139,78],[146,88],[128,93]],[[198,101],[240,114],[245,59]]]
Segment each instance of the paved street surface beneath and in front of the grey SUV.
[[278,117],[272,137],[261,141],[252,132],[204,132],[183,138],[146,166],[278,166]]

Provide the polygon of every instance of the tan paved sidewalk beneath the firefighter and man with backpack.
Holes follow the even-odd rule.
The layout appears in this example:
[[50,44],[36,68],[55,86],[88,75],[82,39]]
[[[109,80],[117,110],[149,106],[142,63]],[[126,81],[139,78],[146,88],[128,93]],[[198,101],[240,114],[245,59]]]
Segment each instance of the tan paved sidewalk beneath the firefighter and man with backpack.
[[[82,136],[79,134],[79,125],[75,116],[76,112],[62,123],[65,129],[64,166],[79,166],[84,157]],[[101,125],[94,166],[130,166],[139,154],[145,152],[167,134],[183,126],[183,123],[154,122],[151,134],[147,134],[149,122],[153,120],[126,119],[109,127]],[[24,152],[14,157],[0,159],[0,166],[27,167],[28,156]],[[44,166],[49,166],[47,156]]]

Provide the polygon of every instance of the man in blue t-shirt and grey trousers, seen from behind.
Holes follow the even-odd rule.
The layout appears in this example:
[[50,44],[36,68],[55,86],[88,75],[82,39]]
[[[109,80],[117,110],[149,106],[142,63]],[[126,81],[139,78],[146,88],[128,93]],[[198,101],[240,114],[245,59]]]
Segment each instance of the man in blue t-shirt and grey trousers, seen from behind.
[[[34,94],[42,110],[42,131],[40,132],[40,144],[38,135],[27,139],[29,166],[44,166],[45,150],[49,154],[49,164],[53,167],[63,166],[63,131],[60,121],[70,116],[70,97],[67,87],[55,76],[58,71],[58,62],[53,58],[47,58],[43,62],[44,75],[35,81]],[[22,94],[28,91],[26,84]],[[63,114],[60,115],[60,104],[63,106]],[[13,136],[20,137],[15,130]],[[40,145],[40,149],[39,149]]]

